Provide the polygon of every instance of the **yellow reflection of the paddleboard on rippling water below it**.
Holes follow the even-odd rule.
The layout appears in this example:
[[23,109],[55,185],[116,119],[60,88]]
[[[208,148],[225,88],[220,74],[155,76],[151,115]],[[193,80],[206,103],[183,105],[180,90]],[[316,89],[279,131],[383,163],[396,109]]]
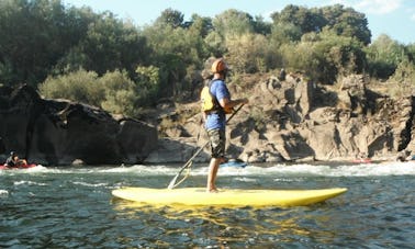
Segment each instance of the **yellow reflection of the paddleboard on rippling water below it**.
[[327,204],[294,208],[181,210],[176,206],[143,206],[114,199],[113,206],[120,217],[141,220],[145,227],[160,227],[158,237],[153,237],[152,241],[158,246],[162,242],[164,246],[175,247],[178,241],[189,247],[293,246],[299,241],[299,245],[305,246],[307,242],[302,241],[303,238],[325,238],[326,241],[322,241],[324,245],[336,237],[333,231],[324,229],[333,220],[330,213],[314,214],[319,208],[330,210]]

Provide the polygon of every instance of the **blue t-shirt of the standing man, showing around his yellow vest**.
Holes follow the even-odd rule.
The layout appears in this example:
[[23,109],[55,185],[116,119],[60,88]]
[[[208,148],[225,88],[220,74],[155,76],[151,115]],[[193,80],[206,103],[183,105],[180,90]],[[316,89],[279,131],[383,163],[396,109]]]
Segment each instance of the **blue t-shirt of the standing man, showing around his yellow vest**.
[[[231,100],[231,93],[227,90],[227,87],[223,80],[213,80],[211,84],[211,93],[216,98],[217,101],[222,99]],[[226,114],[225,112],[223,112],[223,110],[208,114],[208,118],[205,123],[205,128],[208,131],[214,129],[214,128],[224,129],[225,126],[226,126]]]

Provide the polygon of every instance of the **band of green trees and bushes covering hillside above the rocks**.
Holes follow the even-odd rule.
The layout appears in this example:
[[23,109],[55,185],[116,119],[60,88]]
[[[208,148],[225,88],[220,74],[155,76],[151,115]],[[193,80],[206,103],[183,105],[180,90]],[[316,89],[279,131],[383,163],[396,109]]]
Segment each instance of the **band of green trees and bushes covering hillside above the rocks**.
[[323,84],[350,73],[394,86],[415,82],[415,44],[388,35],[371,41],[364,14],[351,8],[290,4],[271,20],[235,9],[184,20],[166,9],[153,24],[137,27],[111,12],[59,0],[4,0],[0,83],[27,83],[46,98],[139,116],[166,98],[194,101],[210,56],[226,57],[234,82],[281,68]]

